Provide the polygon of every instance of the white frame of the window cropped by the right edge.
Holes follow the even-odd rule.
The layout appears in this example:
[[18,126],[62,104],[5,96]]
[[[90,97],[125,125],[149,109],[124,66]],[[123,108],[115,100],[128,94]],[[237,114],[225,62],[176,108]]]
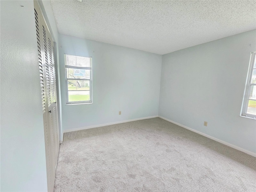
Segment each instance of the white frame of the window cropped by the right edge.
[[[252,72],[253,72],[253,66],[254,66],[254,60],[256,59],[256,52],[251,52],[250,53],[250,62],[249,62],[249,68],[248,68],[248,73],[246,77],[246,84],[244,88],[244,96],[243,96],[243,102],[242,102],[242,108],[241,108],[241,117],[246,117],[246,118],[251,118],[256,120],[256,115],[248,114],[247,108],[248,108],[248,102],[249,102],[249,96],[250,96],[250,86],[251,85],[256,85],[256,84],[251,84],[252,80]],[[252,99],[250,99],[252,100]]]

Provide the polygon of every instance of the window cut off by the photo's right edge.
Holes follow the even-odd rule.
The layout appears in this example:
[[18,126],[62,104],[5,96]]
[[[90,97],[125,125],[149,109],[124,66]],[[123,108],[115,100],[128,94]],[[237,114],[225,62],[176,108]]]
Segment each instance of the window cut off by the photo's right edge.
[[256,119],[256,52],[251,52],[241,116]]

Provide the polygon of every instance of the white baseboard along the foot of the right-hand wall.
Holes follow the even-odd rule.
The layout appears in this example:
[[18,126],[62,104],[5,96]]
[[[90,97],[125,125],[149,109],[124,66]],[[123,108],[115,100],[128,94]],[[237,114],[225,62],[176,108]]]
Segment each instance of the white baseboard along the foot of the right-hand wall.
[[161,119],[164,119],[164,120],[166,120],[166,121],[168,121],[168,122],[171,122],[171,123],[173,123],[173,124],[176,124],[176,125],[178,125],[178,126],[181,126],[181,127],[185,128],[185,129],[188,129],[188,130],[190,130],[190,131],[192,131],[192,132],[195,132],[195,133],[198,133],[198,134],[200,134],[200,135],[202,135],[202,136],[205,136],[205,137],[207,137],[207,138],[210,138],[210,139],[212,139],[212,140],[214,140],[214,141],[217,141],[217,142],[220,142],[220,143],[222,143],[222,144],[224,144],[224,145],[227,145],[227,146],[229,146],[229,147],[232,147],[232,148],[234,148],[234,149],[236,149],[236,150],[242,151],[242,152],[244,152],[244,153],[246,153],[246,154],[249,154],[249,155],[251,155],[251,156],[256,157],[256,153],[254,153],[254,152],[248,151],[248,150],[243,149],[243,148],[241,148],[241,147],[238,147],[238,146],[235,146],[235,145],[230,144],[230,143],[228,143],[228,142],[222,141],[222,140],[220,140],[220,139],[217,139],[217,138],[215,138],[215,137],[212,137],[212,136],[207,135],[207,134],[205,134],[205,133],[202,133],[202,132],[200,132],[200,131],[194,130],[194,129],[192,129],[192,128],[189,128],[189,127],[187,127],[187,126],[184,126],[184,125],[179,124],[179,123],[177,123],[177,122],[174,122],[174,121],[172,121],[172,120],[166,119],[166,118],[164,118],[164,117],[161,117],[161,116],[158,116],[158,117],[161,118]]

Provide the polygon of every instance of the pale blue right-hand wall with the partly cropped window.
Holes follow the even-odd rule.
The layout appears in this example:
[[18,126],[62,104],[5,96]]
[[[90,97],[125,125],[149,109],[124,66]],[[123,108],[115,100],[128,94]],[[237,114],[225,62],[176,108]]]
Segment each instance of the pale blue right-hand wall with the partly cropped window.
[[253,51],[255,30],[164,55],[159,115],[255,153],[256,121],[240,117]]

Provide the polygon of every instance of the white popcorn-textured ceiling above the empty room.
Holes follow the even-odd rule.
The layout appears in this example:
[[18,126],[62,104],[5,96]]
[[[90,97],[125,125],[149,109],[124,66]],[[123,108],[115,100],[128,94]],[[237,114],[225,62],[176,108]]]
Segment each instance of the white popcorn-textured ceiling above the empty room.
[[61,34],[167,54],[256,28],[256,1],[52,0]]

